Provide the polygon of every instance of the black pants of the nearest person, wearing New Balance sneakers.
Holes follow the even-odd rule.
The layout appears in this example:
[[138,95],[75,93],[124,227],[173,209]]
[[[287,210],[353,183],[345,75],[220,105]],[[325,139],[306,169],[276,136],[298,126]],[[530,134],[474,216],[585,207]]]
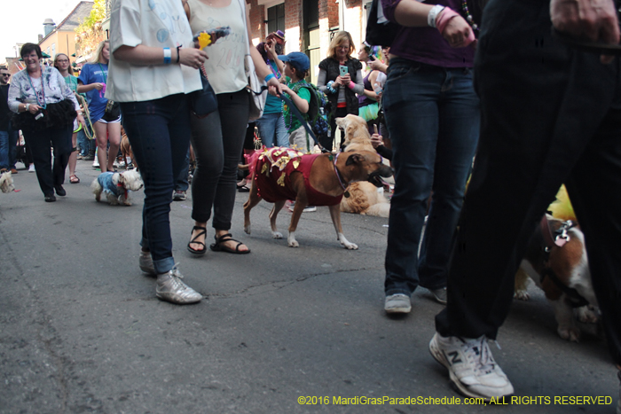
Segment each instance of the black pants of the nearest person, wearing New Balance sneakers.
[[546,2],[491,0],[483,13],[481,138],[436,330],[496,338],[528,238],[565,183],[621,363],[621,68],[555,43],[550,25]]

